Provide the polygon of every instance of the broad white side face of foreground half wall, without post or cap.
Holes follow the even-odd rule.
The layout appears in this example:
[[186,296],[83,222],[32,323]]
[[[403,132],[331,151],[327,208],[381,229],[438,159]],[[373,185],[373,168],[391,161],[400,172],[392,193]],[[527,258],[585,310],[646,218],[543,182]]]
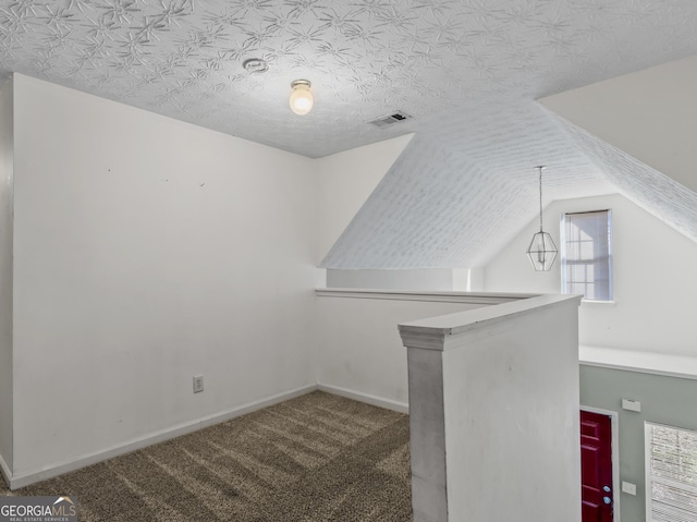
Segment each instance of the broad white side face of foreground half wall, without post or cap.
[[494,323],[443,353],[450,520],[580,522],[576,311]]

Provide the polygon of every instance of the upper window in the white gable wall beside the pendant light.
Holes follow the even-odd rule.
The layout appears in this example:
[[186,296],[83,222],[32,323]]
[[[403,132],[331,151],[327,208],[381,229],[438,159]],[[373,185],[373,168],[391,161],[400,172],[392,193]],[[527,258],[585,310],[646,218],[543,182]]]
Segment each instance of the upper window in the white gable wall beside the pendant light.
[[562,292],[612,301],[611,210],[562,216]]

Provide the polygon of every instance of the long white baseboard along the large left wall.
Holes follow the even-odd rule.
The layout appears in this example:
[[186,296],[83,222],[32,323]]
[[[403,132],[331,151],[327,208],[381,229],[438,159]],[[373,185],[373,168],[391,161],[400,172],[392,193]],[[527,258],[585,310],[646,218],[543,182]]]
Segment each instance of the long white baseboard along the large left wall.
[[213,424],[229,421],[240,415],[244,415],[245,413],[250,413],[262,408],[278,404],[279,402],[283,402],[289,399],[309,393],[310,391],[315,391],[317,388],[317,385],[308,385],[302,388],[296,388],[294,390],[285,391],[267,399],[262,399],[260,401],[249,402],[247,404],[233,408],[232,410],[228,410],[222,413],[217,413],[215,415],[209,415],[196,421],[173,426],[171,428],[162,429],[150,435],[145,435],[127,442],[106,448],[101,451],[96,451],[94,453],[77,457],[75,459],[70,459],[40,471],[13,475],[12,473],[10,473],[10,469],[5,465],[1,457],[0,469],[2,470],[2,474],[5,476],[5,481],[8,482],[10,489],[17,489],[20,487],[28,486],[29,484],[46,481],[48,478],[69,473],[71,471],[80,470],[81,468],[96,464],[97,462],[101,462],[107,459],[112,459],[113,457],[130,453],[132,451],[151,446],[157,442],[162,442],[181,435],[186,435],[198,429],[212,426]]

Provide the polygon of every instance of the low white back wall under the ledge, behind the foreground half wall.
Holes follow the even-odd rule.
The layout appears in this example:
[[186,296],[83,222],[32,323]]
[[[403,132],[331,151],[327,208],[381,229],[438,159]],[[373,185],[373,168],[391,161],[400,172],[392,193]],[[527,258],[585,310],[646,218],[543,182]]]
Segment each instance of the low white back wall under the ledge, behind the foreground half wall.
[[379,399],[405,410],[408,403],[406,349],[396,325],[472,309],[480,304],[318,296],[320,386]]

